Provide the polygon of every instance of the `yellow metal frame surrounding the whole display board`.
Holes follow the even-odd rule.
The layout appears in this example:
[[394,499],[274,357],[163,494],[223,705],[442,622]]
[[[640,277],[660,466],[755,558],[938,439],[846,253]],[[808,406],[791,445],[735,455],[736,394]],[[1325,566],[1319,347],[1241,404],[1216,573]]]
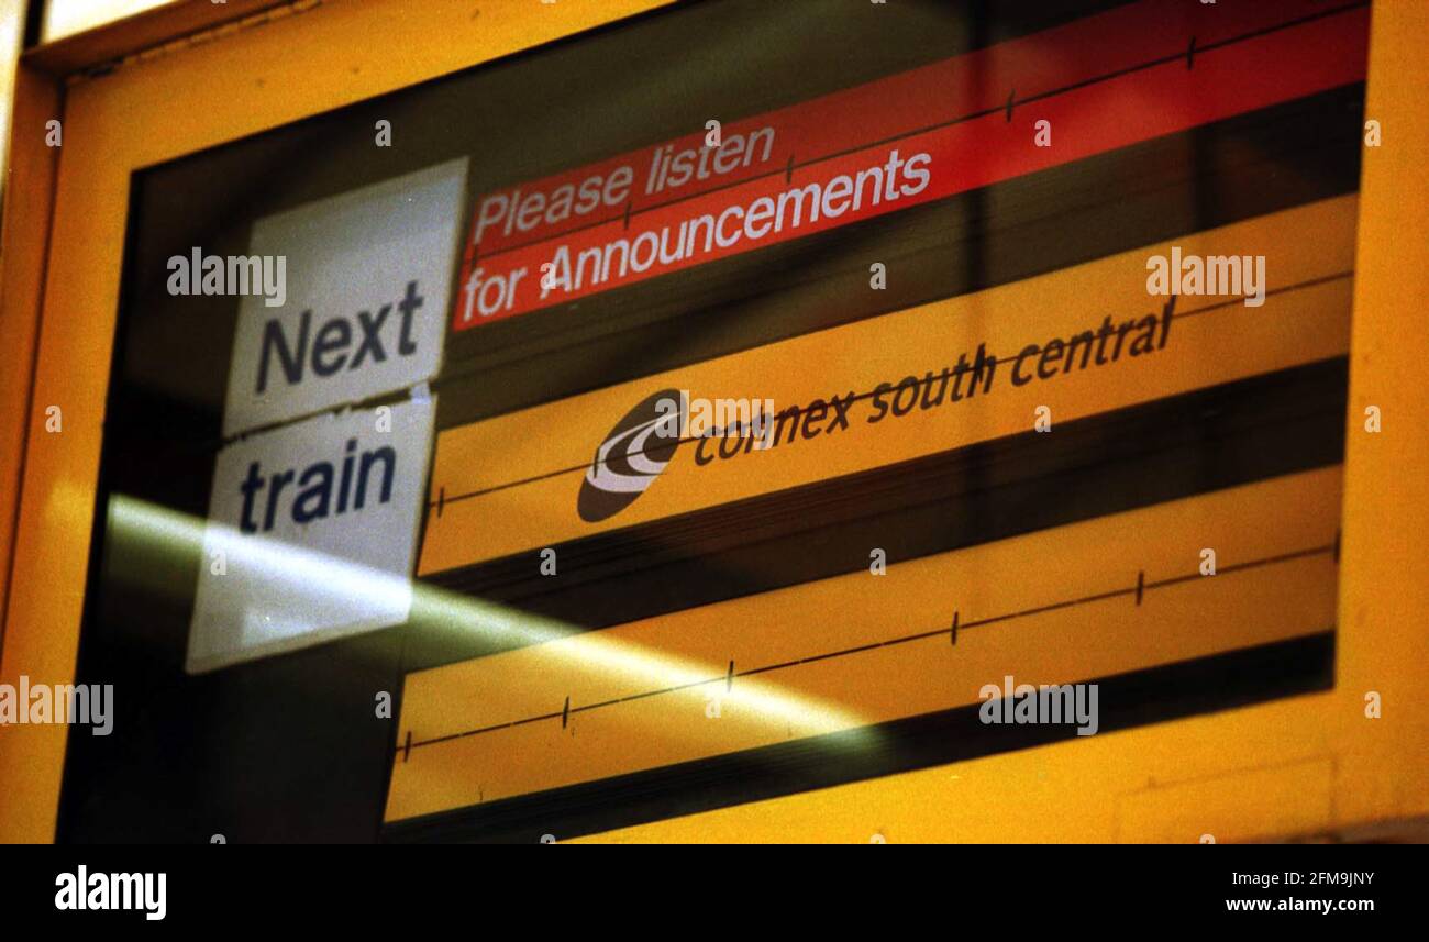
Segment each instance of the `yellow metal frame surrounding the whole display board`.
[[[663,0],[326,0],[134,57],[63,94],[57,80],[21,73],[0,282],[9,360],[0,373],[0,570],[10,573],[0,682],[74,675],[131,172],[657,6]],[[1420,699],[1429,686],[1420,417],[1429,343],[1418,303],[1429,297],[1429,183],[1419,167],[1429,122],[1418,100],[1429,87],[1418,46],[1425,33],[1425,4],[1375,6],[1368,116],[1380,122],[1383,146],[1365,150],[1360,190],[1333,690],[593,839],[1195,842],[1429,813]],[[64,122],[57,153],[43,142],[51,116]],[[61,433],[44,429],[51,405],[63,409]],[[1363,427],[1368,406],[1382,412],[1378,435]],[[1365,715],[1372,690],[1380,719]],[[0,841],[53,839],[66,732],[0,729]]]

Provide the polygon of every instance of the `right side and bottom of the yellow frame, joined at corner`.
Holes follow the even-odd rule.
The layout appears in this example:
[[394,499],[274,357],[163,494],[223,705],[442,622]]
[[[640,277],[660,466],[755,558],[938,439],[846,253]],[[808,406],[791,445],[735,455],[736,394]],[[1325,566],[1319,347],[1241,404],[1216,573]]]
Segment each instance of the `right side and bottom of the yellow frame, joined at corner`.
[[[1429,813],[1429,7],[1376,3],[1355,250],[1335,689],[607,832],[587,842],[1218,842],[1336,839]],[[1366,716],[1366,695],[1386,709]],[[933,810],[930,810],[933,809]],[[560,838],[560,835],[556,835]]]

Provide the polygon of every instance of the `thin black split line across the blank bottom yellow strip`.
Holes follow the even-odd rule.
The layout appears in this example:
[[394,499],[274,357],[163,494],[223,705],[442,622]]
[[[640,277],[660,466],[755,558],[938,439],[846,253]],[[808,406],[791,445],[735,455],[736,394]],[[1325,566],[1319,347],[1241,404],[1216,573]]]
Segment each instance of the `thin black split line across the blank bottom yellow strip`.
[[[1146,592],[1152,592],[1155,589],[1165,589],[1167,586],[1175,586],[1175,585],[1180,585],[1180,583],[1185,583],[1185,582],[1195,582],[1198,579],[1210,579],[1210,577],[1218,577],[1218,576],[1233,575],[1233,573],[1246,572],[1246,570],[1250,570],[1250,569],[1259,569],[1259,567],[1263,567],[1263,566],[1273,566],[1273,565],[1278,565],[1278,563],[1286,563],[1286,562],[1292,562],[1292,560],[1296,560],[1296,559],[1308,559],[1310,556],[1323,556],[1323,555],[1332,555],[1333,556],[1333,553],[1335,553],[1335,543],[1326,543],[1323,546],[1312,546],[1309,549],[1292,550],[1289,553],[1279,553],[1276,556],[1265,556],[1262,559],[1253,559],[1253,560],[1243,562],[1243,563],[1235,563],[1235,565],[1230,565],[1230,566],[1222,566],[1222,567],[1219,567],[1216,570],[1215,576],[1205,576],[1205,575],[1196,572],[1196,573],[1189,573],[1189,575],[1182,575],[1182,576],[1169,576],[1166,579],[1157,579],[1157,580],[1153,580],[1153,582],[1146,582],[1146,583],[1143,583],[1140,586],[1140,592],[1146,593]],[[1095,595],[1080,596],[1077,599],[1066,599],[1066,600],[1062,600],[1062,602],[1052,602],[1049,605],[1039,605],[1039,606],[1035,606],[1035,608],[1030,608],[1030,609],[1022,609],[1022,610],[1009,612],[1009,613],[1005,613],[1005,615],[993,615],[993,616],[983,618],[983,619],[973,619],[973,620],[967,620],[967,622],[960,622],[959,623],[959,630],[966,630],[966,629],[972,629],[972,628],[982,628],[982,626],[987,626],[987,625],[1000,625],[1003,622],[1012,622],[1012,620],[1016,620],[1016,619],[1032,618],[1035,615],[1046,615],[1047,612],[1057,612],[1057,610],[1062,610],[1062,609],[1076,608],[1076,606],[1080,606],[1080,605],[1090,605],[1093,602],[1105,602],[1107,599],[1116,599],[1116,598],[1120,598],[1120,596],[1133,596],[1136,593],[1137,593],[1137,586],[1132,585],[1132,586],[1125,587],[1125,589],[1112,589],[1109,592],[1099,592],[1099,593],[1095,593]],[[603,709],[606,706],[614,706],[617,703],[629,703],[630,700],[642,700],[642,699],[647,699],[647,698],[652,698],[652,696],[660,696],[660,695],[664,695],[664,693],[677,693],[680,690],[687,690],[687,689],[692,689],[692,688],[699,688],[699,686],[706,686],[706,685],[710,685],[710,683],[726,682],[726,680],[729,680],[729,678],[752,678],[755,675],[769,673],[769,672],[773,672],[773,670],[785,670],[785,669],[789,669],[789,668],[796,668],[799,665],[815,663],[815,662],[819,662],[819,660],[829,660],[832,658],[847,658],[847,656],[852,656],[852,655],[865,653],[865,652],[869,652],[869,650],[876,650],[879,648],[892,648],[895,645],[906,645],[909,642],[926,640],[929,638],[943,638],[950,630],[952,630],[950,626],[940,626],[940,628],[936,628],[936,629],[932,629],[932,630],[926,630],[926,632],[917,632],[917,633],[913,633],[913,635],[900,635],[897,638],[889,638],[889,639],[880,640],[880,642],[870,642],[867,645],[859,645],[856,648],[842,648],[839,650],[829,650],[829,652],[823,652],[823,653],[819,653],[819,655],[810,655],[807,658],[797,658],[795,660],[783,660],[783,662],[779,662],[779,663],[765,665],[762,668],[752,668],[749,670],[737,670],[737,672],[732,672],[729,675],[712,676],[712,678],[704,679],[704,680],[692,680],[689,683],[680,683],[680,685],[676,685],[676,686],[662,688],[662,689],[657,689],[657,690],[644,690],[644,692],[640,692],[640,693],[632,693],[629,696],[622,696],[622,698],[616,698],[616,699],[610,699],[610,700],[602,700],[599,703],[587,703],[586,706],[572,706],[569,709],[569,712],[570,713],[580,713],[580,712],[586,712],[586,710]],[[517,720],[512,720],[512,722],[507,722],[507,723],[496,723],[493,726],[482,726],[482,728],[477,728],[477,729],[469,729],[469,730],[459,732],[459,733],[449,733],[449,735],[444,735],[444,736],[436,736],[433,739],[422,739],[422,740],[416,740],[416,742],[409,742],[407,748],[410,750],[410,749],[417,749],[420,746],[432,746],[432,745],[437,745],[437,743],[443,743],[443,742],[450,742],[450,740],[454,740],[454,739],[466,739],[467,736],[477,736],[477,735],[482,735],[482,733],[490,733],[490,732],[499,732],[499,730],[503,730],[503,729],[512,729],[514,726],[524,726],[524,725],[536,723],[536,722],[546,720],[546,719],[560,719],[563,716],[563,713],[564,713],[563,710],[556,710],[553,713],[542,713],[540,716],[529,716],[526,719],[517,719]],[[410,735],[410,730],[407,730],[407,732]]]

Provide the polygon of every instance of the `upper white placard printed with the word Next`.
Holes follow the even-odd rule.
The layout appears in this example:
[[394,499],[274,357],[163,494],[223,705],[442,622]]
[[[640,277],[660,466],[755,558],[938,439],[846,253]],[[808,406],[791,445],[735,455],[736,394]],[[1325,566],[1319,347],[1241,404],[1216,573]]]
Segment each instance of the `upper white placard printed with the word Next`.
[[254,223],[250,257],[284,259],[284,303],[247,294],[239,306],[224,437],[436,375],[466,166],[463,157]]

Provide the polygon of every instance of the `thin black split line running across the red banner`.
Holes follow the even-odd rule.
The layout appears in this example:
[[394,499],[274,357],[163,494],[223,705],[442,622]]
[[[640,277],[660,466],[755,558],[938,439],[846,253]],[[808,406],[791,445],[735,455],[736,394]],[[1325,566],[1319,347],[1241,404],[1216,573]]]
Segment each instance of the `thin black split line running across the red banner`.
[[[1243,43],[1243,41],[1248,41],[1248,40],[1252,40],[1252,39],[1258,39],[1260,36],[1269,36],[1270,33],[1278,33],[1280,30],[1295,29],[1298,26],[1305,26],[1306,23],[1312,23],[1315,20],[1320,20],[1320,19],[1325,19],[1325,17],[1329,17],[1329,16],[1338,16],[1340,13],[1348,13],[1350,10],[1356,10],[1359,7],[1366,7],[1366,6],[1369,6],[1369,0],[1359,0],[1358,3],[1350,3],[1350,4],[1342,6],[1342,7],[1335,7],[1332,10],[1320,10],[1319,13],[1312,13],[1309,16],[1303,16],[1303,17],[1299,17],[1299,19],[1295,19],[1295,20],[1286,20],[1285,23],[1278,23],[1275,26],[1268,26],[1268,27],[1262,27],[1259,30],[1252,30],[1250,33],[1243,33],[1240,36],[1232,36],[1229,39],[1220,40],[1219,43],[1212,43],[1210,46],[1200,46],[1200,47],[1196,49],[1196,51],[1198,53],[1206,53],[1206,51],[1210,51],[1210,50],[1223,49],[1223,47],[1228,47],[1228,46],[1235,46],[1236,43]],[[1032,101],[1043,101],[1046,99],[1052,99],[1052,97],[1056,97],[1059,94],[1066,94],[1069,91],[1076,91],[1079,89],[1086,89],[1086,87],[1090,87],[1090,86],[1095,86],[1095,84],[1100,84],[1103,81],[1112,81],[1115,79],[1122,79],[1122,77],[1126,77],[1126,76],[1137,73],[1137,71],[1145,71],[1147,69],[1155,69],[1157,66],[1165,66],[1165,64],[1170,64],[1170,63],[1179,63],[1179,61],[1185,61],[1185,60],[1186,60],[1185,50],[1176,51],[1176,53],[1172,53],[1172,54],[1167,54],[1167,56],[1160,56],[1157,59],[1149,59],[1149,60],[1146,60],[1143,63],[1137,63],[1137,64],[1133,64],[1133,66],[1126,66],[1123,69],[1117,69],[1116,71],[1109,71],[1109,73],[1102,74],[1102,76],[1093,76],[1090,79],[1082,79],[1080,81],[1073,81],[1073,83],[1066,84],[1066,86],[1060,86],[1060,87],[1056,87],[1056,89],[1049,89],[1046,91],[1039,91],[1037,94],[1029,96],[1026,99],[1017,99],[1016,104],[1022,106],[1022,104],[1029,104]],[[845,89],[845,91],[847,91],[847,89]],[[830,93],[830,94],[839,94],[839,93],[835,91],[835,93]],[[803,103],[803,104],[807,104],[807,103]],[[795,107],[795,106],[790,106],[790,107]],[[509,254],[512,252],[520,252],[522,249],[530,249],[533,246],[540,246],[540,244],[544,244],[547,242],[554,242],[556,239],[563,239],[563,237],[567,237],[567,236],[573,236],[576,233],[586,232],[586,230],[590,230],[590,229],[599,229],[600,226],[606,226],[609,223],[616,223],[616,222],[620,222],[622,219],[626,220],[626,227],[629,229],[629,220],[633,216],[640,216],[643,213],[653,213],[656,210],[667,209],[670,206],[679,206],[680,203],[696,200],[696,199],[700,199],[700,197],[704,197],[704,196],[712,196],[714,193],[722,193],[722,192],[733,189],[736,186],[743,186],[746,183],[757,183],[759,180],[767,180],[770,177],[779,177],[779,176],[790,177],[793,174],[793,170],[802,170],[805,167],[812,167],[812,166],[816,166],[816,164],[820,164],[820,163],[827,163],[829,160],[837,160],[839,157],[847,157],[847,156],[856,154],[856,153],[859,153],[862,150],[870,150],[873,147],[883,147],[883,146],[887,146],[887,144],[896,144],[900,140],[906,140],[909,137],[916,137],[917,134],[926,134],[926,133],[930,133],[930,132],[942,130],[945,127],[953,127],[955,124],[963,124],[963,123],[967,123],[967,122],[975,122],[977,119],[989,117],[992,114],[1002,114],[1006,110],[1007,110],[1007,104],[1006,103],[1002,103],[1002,104],[997,104],[997,106],[993,106],[993,107],[979,109],[977,111],[969,111],[967,114],[962,114],[962,116],[957,116],[957,117],[950,117],[950,119],[943,120],[943,122],[936,122],[933,124],[917,127],[917,129],[913,129],[913,130],[909,130],[909,132],[902,132],[899,134],[892,134],[889,137],[873,140],[873,142],[869,142],[869,143],[865,143],[865,144],[856,144],[853,147],[845,147],[843,150],[836,150],[836,152],[823,154],[820,157],[810,157],[809,160],[803,160],[803,162],[799,162],[799,163],[790,162],[786,167],[780,167],[777,170],[766,170],[763,173],[757,173],[757,174],[753,174],[753,176],[740,177],[737,180],[730,180],[727,183],[720,183],[720,184],[712,186],[707,190],[699,190],[699,192],[690,193],[687,196],[679,196],[679,197],[672,197],[669,200],[662,200],[659,203],[652,203],[652,204],[643,206],[643,207],[640,207],[637,210],[632,210],[630,206],[627,204],[624,209],[622,209],[620,213],[617,213],[616,216],[610,216],[609,219],[592,220],[589,223],[582,223],[579,226],[572,226],[570,229],[563,229],[563,230],[560,230],[557,233],[552,233],[549,236],[542,236],[539,239],[532,239],[529,242],[520,242],[520,243],[516,243],[516,244],[504,246],[502,249],[494,249],[492,252],[480,252],[480,249],[477,247],[476,252],[477,252],[477,256],[480,259],[492,259],[492,257],[496,257],[496,256]],[[740,119],[740,120],[757,120],[759,117],[762,117],[762,116],[756,114],[756,116],[752,116],[752,117],[747,117],[747,119]],[[656,147],[663,147],[666,143],[669,143],[669,142],[657,142],[654,146]],[[609,157],[607,157],[607,160],[609,160]],[[562,176],[564,173],[570,173],[570,170],[562,170],[560,173],[556,173],[553,176]],[[474,264],[474,263],[476,263],[476,257],[472,259],[472,264]]]

